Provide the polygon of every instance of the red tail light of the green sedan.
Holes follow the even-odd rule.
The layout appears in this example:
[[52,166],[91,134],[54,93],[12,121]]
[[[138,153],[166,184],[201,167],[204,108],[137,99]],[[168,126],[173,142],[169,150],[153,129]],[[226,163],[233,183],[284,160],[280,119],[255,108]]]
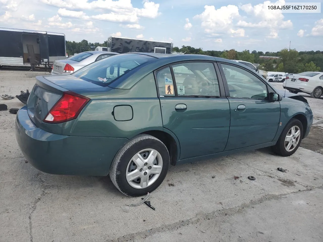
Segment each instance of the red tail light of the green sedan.
[[45,123],[63,123],[77,118],[89,98],[73,92],[64,92],[44,119]]

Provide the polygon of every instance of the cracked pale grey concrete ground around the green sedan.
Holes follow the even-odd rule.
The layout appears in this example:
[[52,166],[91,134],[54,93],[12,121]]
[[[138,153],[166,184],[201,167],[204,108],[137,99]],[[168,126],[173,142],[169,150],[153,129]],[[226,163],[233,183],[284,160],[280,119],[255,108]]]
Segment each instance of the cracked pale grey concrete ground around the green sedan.
[[[42,74],[0,71],[0,94],[31,90]],[[323,119],[322,98],[306,98]],[[0,103],[23,106],[16,98]],[[321,125],[307,138],[316,143],[289,157],[266,148],[171,166],[149,199],[154,211],[125,207],[141,199],[123,196],[109,177],[49,175],[30,166],[16,143],[15,116],[0,112],[0,242],[323,241]]]

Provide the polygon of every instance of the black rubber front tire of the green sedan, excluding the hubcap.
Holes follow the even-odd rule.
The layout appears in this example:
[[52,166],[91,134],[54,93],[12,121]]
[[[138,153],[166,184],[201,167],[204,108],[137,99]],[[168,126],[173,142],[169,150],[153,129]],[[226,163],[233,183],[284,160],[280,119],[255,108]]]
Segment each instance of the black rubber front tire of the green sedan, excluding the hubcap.
[[[286,145],[287,145],[287,142],[289,142],[292,138],[293,138],[293,140],[297,140],[297,138],[294,139],[294,136],[291,136],[291,137],[288,137],[288,141],[285,141],[285,140],[287,140],[287,134],[288,134],[288,136],[290,136],[289,131],[293,127],[298,127],[298,130],[300,132],[299,140],[298,140],[297,145],[295,146],[295,148],[293,150],[287,151],[286,148],[285,148]],[[294,154],[296,152],[296,150],[298,149],[298,147],[299,147],[299,145],[300,145],[300,143],[302,141],[302,137],[303,137],[303,125],[302,125],[301,121],[299,121],[296,118],[292,118],[289,121],[289,123],[285,126],[283,132],[280,134],[280,137],[277,140],[276,145],[272,146],[272,150],[277,155],[290,156],[290,155]],[[288,145],[287,145],[287,147],[288,147]]]

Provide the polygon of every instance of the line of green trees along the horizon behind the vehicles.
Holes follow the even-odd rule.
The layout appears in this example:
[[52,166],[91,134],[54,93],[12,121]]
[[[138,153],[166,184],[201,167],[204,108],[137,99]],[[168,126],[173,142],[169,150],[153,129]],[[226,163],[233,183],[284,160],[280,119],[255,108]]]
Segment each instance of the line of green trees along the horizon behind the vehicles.
[[[107,41],[104,43],[90,43],[87,40],[81,42],[66,41],[66,51],[68,55],[74,55],[87,50],[94,50],[96,46],[107,47]],[[185,54],[210,55],[222,57],[230,60],[243,60],[251,63],[260,64],[259,69],[265,71],[279,71],[287,73],[300,73],[304,71],[323,70],[323,51],[297,51],[296,49],[282,49],[278,52],[262,52],[253,50],[236,51],[231,50],[206,50],[194,48],[192,46],[173,47],[173,51],[185,52]],[[259,56],[277,56],[279,58],[261,59]]]

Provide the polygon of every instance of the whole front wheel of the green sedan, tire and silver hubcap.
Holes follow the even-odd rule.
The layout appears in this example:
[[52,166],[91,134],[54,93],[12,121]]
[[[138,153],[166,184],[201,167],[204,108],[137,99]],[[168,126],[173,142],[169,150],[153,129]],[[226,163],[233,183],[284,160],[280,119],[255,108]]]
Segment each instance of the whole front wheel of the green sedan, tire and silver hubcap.
[[272,146],[272,149],[277,155],[290,156],[298,149],[302,137],[303,125],[301,121],[292,118],[280,134],[276,145]]

